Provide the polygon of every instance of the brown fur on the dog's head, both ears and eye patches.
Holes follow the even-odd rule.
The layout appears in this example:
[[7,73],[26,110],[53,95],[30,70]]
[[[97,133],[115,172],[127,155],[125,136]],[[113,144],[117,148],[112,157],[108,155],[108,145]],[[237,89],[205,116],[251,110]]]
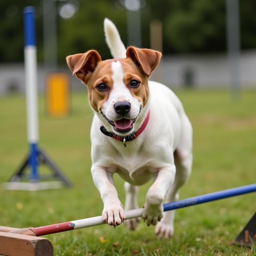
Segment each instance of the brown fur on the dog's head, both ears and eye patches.
[[[148,102],[149,87],[148,79],[152,71],[158,65],[161,53],[151,49],[139,49],[128,47],[127,58],[108,59],[101,61],[99,53],[95,50],[69,55],[67,63],[69,68],[88,87],[89,101],[92,108],[99,112],[113,88],[111,63],[120,61],[124,71],[123,82],[130,90],[131,94],[143,103],[143,107]],[[140,85],[130,86],[132,80],[138,80]],[[100,91],[97,86],[103,83],[107,90]]]

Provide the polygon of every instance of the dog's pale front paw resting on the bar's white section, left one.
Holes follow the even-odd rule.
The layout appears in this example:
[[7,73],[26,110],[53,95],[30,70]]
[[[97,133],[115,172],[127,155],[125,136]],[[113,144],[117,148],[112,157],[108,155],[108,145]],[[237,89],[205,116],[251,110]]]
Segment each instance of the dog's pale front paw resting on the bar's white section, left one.
[[110,203],[104,206],[102,218],[109,225],[118,226],[125,220],[123,205],[121,203]]

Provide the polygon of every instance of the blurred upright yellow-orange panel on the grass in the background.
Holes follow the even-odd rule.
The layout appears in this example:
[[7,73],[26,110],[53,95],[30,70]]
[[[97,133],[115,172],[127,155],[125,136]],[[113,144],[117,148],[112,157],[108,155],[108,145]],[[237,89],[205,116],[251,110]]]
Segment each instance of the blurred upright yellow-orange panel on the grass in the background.
[[46,78],[47,112],[54,117],[69,114],[69,76],[65,73],[51,73]]

